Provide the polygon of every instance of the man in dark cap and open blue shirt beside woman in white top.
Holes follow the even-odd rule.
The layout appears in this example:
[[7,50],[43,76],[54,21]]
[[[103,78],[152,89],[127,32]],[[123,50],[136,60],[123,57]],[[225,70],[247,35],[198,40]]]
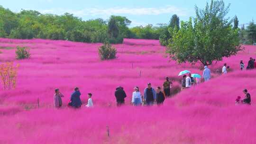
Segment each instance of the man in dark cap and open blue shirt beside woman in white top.
[[152,88],[151,83],[147,83],[147,87],[144,90],[144,100],[146,100],[147,106],[152,106],[156,99],[155,89]]

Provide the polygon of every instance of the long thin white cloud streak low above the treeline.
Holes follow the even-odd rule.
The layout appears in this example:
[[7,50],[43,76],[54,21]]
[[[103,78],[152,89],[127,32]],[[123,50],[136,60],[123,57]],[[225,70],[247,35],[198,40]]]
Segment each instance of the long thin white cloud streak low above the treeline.
[[[50,0],[52,1],[52,0]],[[178,8],[174,6],[166,6],[159,8],[121,8],[121,7],[113,7],[113,8],[89,8],[89,9],[81,9],[81,10],[73,10],[73,9],[45,9],[39,10],[42,13],[53,13],[53,14],[63,14],[65,12],[72,13],[75,16],[110,16],[110,15],[161,15],[161,14],[177,14],[179,16],[187,16],[188,10],[183,8]]]

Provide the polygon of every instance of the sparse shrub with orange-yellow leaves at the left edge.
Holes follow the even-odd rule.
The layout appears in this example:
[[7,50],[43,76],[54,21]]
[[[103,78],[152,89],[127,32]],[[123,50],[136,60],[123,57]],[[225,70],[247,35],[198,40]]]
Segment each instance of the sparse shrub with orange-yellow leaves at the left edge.
[[11,90],[16,86],[18,64],[16,66],[13,63],[0,64],[0,78],[3,84],[3,89]]

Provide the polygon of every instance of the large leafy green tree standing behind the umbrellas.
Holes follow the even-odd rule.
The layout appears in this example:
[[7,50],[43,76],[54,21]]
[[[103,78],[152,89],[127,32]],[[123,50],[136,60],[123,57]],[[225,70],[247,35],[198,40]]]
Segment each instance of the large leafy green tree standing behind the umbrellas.
[[171,28],[172,39],[167,53],[179,63],[210,65],[223,57],[237,54],[241,50],[238,29],[231,27],[232,20],[226,19],[229,6],[224,2],[211,0],[205,9],[195,8],[196,18],[182,22],[180,30]]

